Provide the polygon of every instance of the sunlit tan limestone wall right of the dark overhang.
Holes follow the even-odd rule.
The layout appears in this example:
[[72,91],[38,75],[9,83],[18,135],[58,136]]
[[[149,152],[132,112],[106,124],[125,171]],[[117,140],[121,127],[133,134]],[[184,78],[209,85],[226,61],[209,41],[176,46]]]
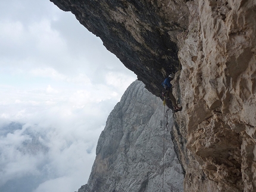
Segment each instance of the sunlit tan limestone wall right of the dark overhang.
[[[179,50],[185,110],[176,118],[191,153],[189,164],[183,160],[185,189],[256,191],[256,1],[195,1],[189,7]],[[202,175],[207,180],[200,181]]]

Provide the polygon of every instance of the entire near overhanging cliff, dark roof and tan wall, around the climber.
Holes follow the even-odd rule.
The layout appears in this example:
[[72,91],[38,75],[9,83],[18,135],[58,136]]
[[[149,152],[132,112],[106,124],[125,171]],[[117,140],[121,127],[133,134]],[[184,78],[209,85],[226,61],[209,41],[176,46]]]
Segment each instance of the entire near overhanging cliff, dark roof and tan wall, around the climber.
[[184,191],[256,191],[255,0],[51,1],[155,96],[176,75],[183,110],[171,138]]

